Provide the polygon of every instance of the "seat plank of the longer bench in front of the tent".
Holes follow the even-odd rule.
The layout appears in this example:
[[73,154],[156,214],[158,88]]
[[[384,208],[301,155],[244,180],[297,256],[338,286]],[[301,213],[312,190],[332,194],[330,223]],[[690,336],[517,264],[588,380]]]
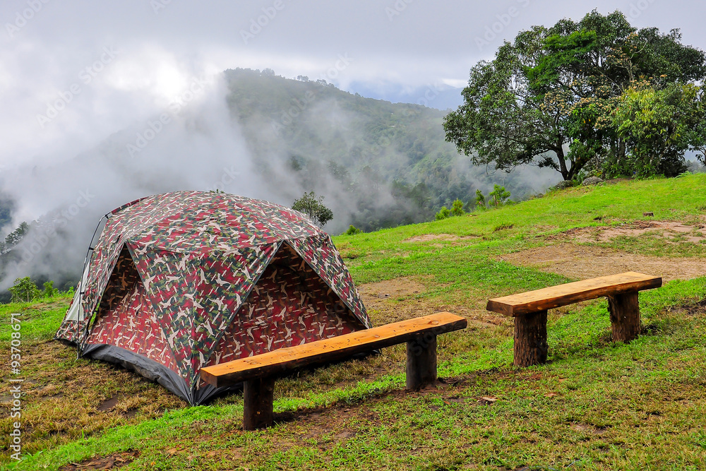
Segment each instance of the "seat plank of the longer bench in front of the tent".
[[201,369],[201,378],[216,387],[231,386],[246,379],[273,376],[302,366],[346,359],[354,354],[414,340],[425,333],[436,337],[452,330],[460,330],[466,325],[465,318],[450,312],[440,312],[303,345],[280,348],[254,357],[205,366]]

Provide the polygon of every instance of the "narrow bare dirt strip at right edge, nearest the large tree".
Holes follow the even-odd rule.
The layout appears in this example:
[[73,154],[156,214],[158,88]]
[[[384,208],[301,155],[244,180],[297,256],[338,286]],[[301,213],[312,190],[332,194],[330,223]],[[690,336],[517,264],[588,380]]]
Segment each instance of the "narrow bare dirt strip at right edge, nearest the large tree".
[[562,232],[560,237],[570,237],[576,242],[610,242],[616,237],[636,237],[647,232],[666,239],[676,239],[680,242],[693,242],[699,244],[706,241],[706,234],[702,232],[706,226],[690,226],[675,221],[635,221],[629,224],[606,227],[577,227]]

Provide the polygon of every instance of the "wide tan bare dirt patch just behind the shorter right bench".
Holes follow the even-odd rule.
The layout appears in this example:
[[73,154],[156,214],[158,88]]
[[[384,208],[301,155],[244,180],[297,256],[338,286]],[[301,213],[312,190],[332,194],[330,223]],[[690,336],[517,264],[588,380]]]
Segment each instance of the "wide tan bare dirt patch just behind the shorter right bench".
[[706,275],[706,263],[698,257],[653,257],[566,243],[505,254],[498,260],[581,280],[626,271],[662,276],[665,281]]

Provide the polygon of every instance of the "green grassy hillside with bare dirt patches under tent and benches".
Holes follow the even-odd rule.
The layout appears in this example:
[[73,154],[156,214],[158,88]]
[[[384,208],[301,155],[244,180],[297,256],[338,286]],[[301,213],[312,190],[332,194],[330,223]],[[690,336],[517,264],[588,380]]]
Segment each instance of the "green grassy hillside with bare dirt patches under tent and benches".
[[[108,462],[126,470],[706,469],[706,277],[679,275],[687,268],[706,275],[705,186],[704,174],[618,181],[335,238],[374,324],[449,310],[469,318],[469,327],[439,338],[442,381],[422,391],[404,390],[404,345],[277,381],[277,425],[265,431],[242,431],[241,395],[187,407],[134,374],[77,360],[50,340],[66,299],[5,306],[2,345],[8,313],[23,312],[23,445],[31,454],[13,463],[6,453],[0,463],[28,470]],[[669,280],[640,294],[640,338],[611,342],[605,300],[555,309],[549,362],[513,368],[512,321],[485,311],[489,297],[625,269]],[[0,376],[10,376],[7,362]],[[0,407],[10,400],[3,396]],[[11,423],[2,417],[7,437]]]

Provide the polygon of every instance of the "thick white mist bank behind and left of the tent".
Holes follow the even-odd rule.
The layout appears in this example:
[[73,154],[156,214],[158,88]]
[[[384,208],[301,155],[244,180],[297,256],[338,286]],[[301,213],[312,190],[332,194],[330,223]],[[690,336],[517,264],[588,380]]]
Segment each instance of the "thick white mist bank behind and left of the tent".
[[194,83],[181,100],[76,157],[56,162],[47,150],[46,158],[4,169],[1,189],[16,206],[4,232],[36,222],[15,247],[0,288],[25,275],[75,280],[97,222],[128,201],[184,189],[268,196],[230,119],[222,80]]

